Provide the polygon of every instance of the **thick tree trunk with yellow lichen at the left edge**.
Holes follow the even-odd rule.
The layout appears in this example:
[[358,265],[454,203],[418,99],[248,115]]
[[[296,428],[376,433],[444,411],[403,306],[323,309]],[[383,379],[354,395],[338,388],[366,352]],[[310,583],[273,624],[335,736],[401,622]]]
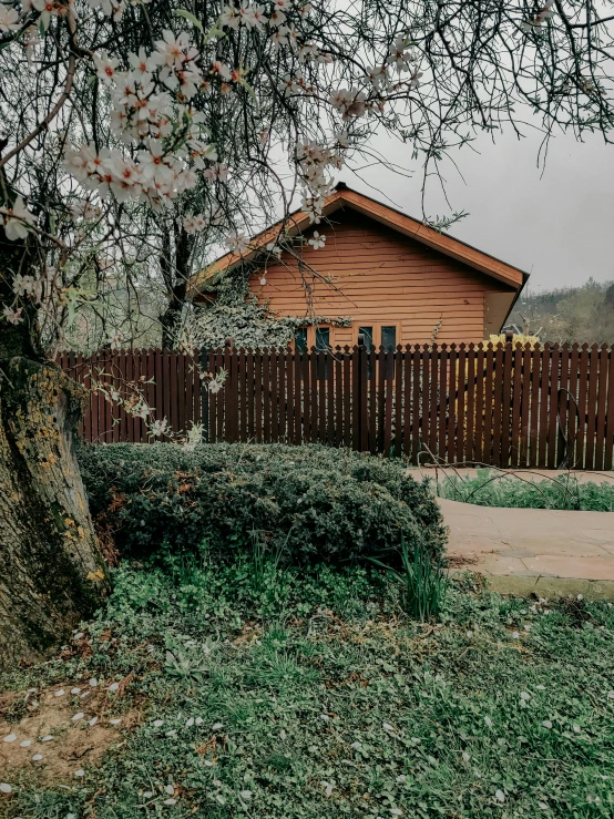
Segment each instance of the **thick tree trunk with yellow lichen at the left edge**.
[[74,446],[84,390],[0,357],[0,669],[44,656],[109,590]]

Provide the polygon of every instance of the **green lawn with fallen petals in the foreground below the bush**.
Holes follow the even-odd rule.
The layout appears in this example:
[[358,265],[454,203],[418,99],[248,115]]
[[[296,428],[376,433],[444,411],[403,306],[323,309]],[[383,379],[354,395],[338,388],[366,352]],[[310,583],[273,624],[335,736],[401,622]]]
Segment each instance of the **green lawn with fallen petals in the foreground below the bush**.
[[[2,819],[613,816],[611,605],[502,598],[467,577],[419,623],[387,573],[255,555],[124,565],[59,656],[0,678],[18,739],[32,697],[58,689],[85,711],[58,747],[124,719],[96,764],[71,758],[52,781],[44,759],[14,769]],[[69,694],[90,678],[93,728],[90,699]]]

